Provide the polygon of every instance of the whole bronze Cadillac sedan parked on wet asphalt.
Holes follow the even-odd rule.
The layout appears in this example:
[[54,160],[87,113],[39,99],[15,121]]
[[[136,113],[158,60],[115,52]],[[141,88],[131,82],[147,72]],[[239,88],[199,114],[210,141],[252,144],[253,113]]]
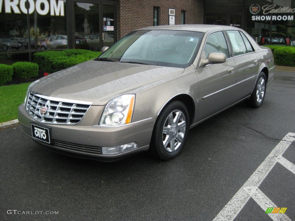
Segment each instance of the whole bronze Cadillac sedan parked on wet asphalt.
[[169,160],[190,128],[242,100],[260,107],[274,68],[271,50],[242,29],[148,27],[32,83],[18,118],[24,133],[62,154],[114,161],[150,151]]

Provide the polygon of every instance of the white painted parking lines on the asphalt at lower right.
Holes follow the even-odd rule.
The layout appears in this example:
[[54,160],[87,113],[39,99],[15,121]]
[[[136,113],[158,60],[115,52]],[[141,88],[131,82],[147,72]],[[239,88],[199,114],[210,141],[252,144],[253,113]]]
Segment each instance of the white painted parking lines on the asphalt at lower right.
[[[239,191],[232,197],[232,199],[223,207],[223,209],[218,213],[214,218],[214,221],[217,220],[234,220],[235,217],[239,214],[245,204],[248,202],[250,197],[252,197],[260,207],[266,211],[267,207],[265,205],[269,204],[269,207],[276,207],[273,202],[263,194],[258,187],[271,171],[273,166],[279,162],[291,172],[294,173],[295,165],[290,161],[282,157],[283,153],[290,146],[290,144],[295,141],[295,133],[288,133],[283,140],[271,151],[271,153],[266,157],[266,159],[258,166],[255,172],[251,177],[245,182],[245,184],[239,189]],[[268,215],[273,219],[280,219],[282,216],[274,217],[273,214],[269,213]],[[288,220],[285,214],[283,220]],[[289,219],[290,220],[290,219]]]

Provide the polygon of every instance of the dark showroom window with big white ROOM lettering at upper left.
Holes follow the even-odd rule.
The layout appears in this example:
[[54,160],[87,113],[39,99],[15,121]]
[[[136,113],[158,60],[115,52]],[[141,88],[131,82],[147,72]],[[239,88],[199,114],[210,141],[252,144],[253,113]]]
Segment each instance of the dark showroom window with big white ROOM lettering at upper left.
[[[65,1],[0,1],[2,3],[0,38],[11,39],[20,45],[19,49],[6,47],[4,50],[2,43],[0,45],[0,63],[6,63],[4,61],[6,55],[9,55],[11,59],[22,54],[23,56],[20,56],[19,60],[26,60],[28,58],[27,52],[39,51],[49,37],[67,35]],[[63,41],[62,44],[56,46],[56,49],[67,47],[67,41]]]

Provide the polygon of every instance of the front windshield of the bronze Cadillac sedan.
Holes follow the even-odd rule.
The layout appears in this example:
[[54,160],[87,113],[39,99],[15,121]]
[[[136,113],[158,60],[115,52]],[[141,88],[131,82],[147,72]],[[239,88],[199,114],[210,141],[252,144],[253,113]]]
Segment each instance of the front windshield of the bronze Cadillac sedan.
[[191,31],[134,31],[96,60],[185,68],[194,61],[203,36]]

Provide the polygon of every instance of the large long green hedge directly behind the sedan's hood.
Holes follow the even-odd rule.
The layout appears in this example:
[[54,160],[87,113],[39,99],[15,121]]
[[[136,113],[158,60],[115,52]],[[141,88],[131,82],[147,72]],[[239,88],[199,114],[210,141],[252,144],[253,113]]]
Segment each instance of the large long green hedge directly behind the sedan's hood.
[[57,72],[98,57],[101,52],[81,49],[68,49],[63,51],[44,51],[34,54],[34,61],[44,72]]

